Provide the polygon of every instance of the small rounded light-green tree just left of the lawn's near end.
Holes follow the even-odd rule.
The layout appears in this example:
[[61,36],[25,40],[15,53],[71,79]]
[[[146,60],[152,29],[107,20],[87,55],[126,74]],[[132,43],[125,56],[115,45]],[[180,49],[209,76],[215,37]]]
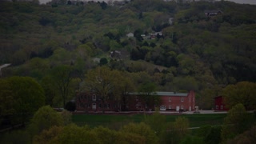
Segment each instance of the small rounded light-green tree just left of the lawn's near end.
[[63,126],[62,115],[50,106],[42,106],[31,119],[29,130],[31,135],[37,135],[42,130],[49,130],[52,126]]

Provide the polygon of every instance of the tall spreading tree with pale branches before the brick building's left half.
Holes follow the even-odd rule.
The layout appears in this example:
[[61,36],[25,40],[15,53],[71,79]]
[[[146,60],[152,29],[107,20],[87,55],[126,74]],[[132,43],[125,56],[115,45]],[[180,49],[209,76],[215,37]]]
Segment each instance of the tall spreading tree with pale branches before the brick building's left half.
[[120,82],[118,75],[117,70],[110,70],[106,66],[97,67],[86,74],[85,89],[89,92],[96,93],[100,97],[103,105],[103,113],[105,112],[106,101],[109,98],[120,99],[120,95],[115,92]]

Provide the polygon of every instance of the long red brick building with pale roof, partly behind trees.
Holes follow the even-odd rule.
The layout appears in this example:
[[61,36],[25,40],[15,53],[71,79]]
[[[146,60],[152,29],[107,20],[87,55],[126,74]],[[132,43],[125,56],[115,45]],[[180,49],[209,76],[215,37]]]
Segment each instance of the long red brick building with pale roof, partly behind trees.
[[189,110],[193,111],[195,107],[195,94],[191,90],[189,93],[176,93],[176,92],[156,92],[154,96],[160,97],[160,102],[157,105],[151,103],[149,105],[142,98],[142,94],[130,93],[129,100],[126,104],[113,96],[109,96],[106,102],[102,103],[99,95],[94,93],[79,93],[76,97],[76,110],[83,111],[116,111],[116,110],[154,110],[159,107],[160,110]]

